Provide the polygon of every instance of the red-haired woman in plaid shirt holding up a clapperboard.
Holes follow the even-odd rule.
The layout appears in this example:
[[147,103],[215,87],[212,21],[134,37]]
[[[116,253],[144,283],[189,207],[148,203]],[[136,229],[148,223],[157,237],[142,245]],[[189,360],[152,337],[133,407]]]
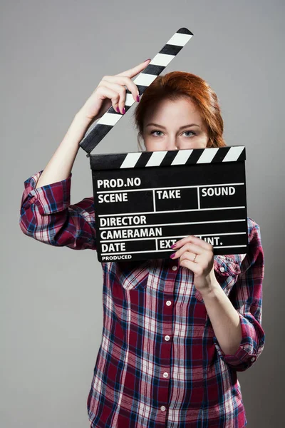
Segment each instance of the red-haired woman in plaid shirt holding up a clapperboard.
[[[217,96],[202,78],[167,73],[138,98],[131,78],[149,61],[104,76],[46,168],[24,182],[26,235],[96,250],[93,198],[71,205],[71,168],[90,123],[111,105],[125,113],[125,86],[140,101],[135,125],[147,151],[226,146]],[[259,225],[247,221],[247,254],[214,256],[212,245],[187,236],[169,259],[102,263],[103,337],[87,400],[90,427],[247,425],[237,372],[254,364],[265,338],[264,253]]]

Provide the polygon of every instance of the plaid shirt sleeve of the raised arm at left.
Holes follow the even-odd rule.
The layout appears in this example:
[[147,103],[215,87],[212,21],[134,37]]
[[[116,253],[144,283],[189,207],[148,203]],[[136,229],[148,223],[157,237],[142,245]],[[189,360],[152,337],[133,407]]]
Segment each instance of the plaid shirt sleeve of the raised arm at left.
[[25,235],[72,250],[97,250],[94,199],[71,204],[71,176],[36,188],[43,170],[24,181],[19,225]]

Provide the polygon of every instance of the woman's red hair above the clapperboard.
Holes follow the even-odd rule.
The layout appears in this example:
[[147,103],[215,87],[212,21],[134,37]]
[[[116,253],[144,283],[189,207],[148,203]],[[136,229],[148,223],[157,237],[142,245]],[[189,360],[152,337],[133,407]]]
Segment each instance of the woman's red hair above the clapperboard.
[[[222,136],[224,122],[216,93],[208,83],[199,76],[185,71],[172,71],[164,76],[157,76],[142,94],[135,108],[135,128],[138,129],[138,144],[143,136],[143,121],[145,113],[154,109],[162,99],[177,100],[190,98],[207,126],[209,141],[207,147],[224,147],[227,144]],[[140,146],[142,149],[142,147]]]

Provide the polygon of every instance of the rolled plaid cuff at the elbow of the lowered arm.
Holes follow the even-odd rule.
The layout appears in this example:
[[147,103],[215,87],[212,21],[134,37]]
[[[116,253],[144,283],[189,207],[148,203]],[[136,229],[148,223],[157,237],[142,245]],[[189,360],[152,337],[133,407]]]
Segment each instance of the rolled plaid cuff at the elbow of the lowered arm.
[[240,323],[242,327],[242,340],[238,350],[234,354],[225,354],[219,346],[217,337],[213,337],[214,345],[217,349],[219,356],[228,365],[231,365],[236,370],[246,370],[249,366],[253,365],[261,354],[264,347],[264,336],[258,337],[254,325],[252,325],[247,318],[239,314]]

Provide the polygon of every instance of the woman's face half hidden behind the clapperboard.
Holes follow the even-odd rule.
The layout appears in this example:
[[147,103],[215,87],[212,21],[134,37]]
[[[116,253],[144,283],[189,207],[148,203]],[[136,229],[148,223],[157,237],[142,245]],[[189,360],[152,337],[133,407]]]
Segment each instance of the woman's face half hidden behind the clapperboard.
[[190,98],[160,101],[145,116],[143,139],[146,151],[205,148],[207,127]]

